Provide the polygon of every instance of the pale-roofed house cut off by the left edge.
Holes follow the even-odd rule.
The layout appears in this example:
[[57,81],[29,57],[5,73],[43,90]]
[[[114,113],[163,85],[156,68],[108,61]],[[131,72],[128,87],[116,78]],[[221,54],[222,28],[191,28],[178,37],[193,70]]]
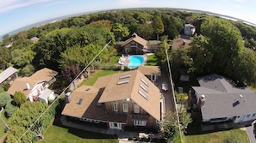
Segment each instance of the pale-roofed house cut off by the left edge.
[[5,69],[2,73],[0,73],[0,86],[3,86],[4,83],[11,80],[16,80],[17,78],[17,69],[9,67],[8,69]]

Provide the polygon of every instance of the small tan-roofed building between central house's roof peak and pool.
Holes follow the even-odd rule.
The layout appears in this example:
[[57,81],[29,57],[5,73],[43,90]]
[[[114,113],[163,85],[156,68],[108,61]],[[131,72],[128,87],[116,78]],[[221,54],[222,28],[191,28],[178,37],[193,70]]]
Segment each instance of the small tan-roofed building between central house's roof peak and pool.
[[139,70],[153,83],[155,83],[161,75],[161,69],[159,66],[140,66]]

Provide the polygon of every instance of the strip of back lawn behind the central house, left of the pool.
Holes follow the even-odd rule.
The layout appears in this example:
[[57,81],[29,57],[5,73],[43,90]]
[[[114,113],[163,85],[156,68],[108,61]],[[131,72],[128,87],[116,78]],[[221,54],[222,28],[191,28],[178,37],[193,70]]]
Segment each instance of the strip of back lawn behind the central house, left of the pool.
[[83,85],[92,86],[96,82],[97,78],[109,74],[116,74],[118,72],[119,71],[114,70],[98,70],[97,72],[91,74],[91,77],[89,77],[89,79],[85,79]]

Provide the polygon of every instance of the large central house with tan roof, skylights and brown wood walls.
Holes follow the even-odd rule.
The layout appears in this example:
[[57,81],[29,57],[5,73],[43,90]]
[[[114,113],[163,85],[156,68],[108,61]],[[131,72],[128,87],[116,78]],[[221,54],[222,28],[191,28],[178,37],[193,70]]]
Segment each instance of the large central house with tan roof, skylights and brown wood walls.
[[100,77],[93,86],[68,93],[62,116],[100,123],[113,129],[159,128],[159,88],[139,70]]

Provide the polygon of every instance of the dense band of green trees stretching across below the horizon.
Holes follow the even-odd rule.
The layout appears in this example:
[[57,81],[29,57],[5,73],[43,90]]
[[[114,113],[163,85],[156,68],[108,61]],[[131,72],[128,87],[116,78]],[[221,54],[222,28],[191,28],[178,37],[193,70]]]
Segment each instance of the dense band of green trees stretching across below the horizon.
[[[253,51],[255,50],[256,42],[254,39],[256,38],[256,28],[240,21],[223,20],[213,15],[172,9],[122,9],[79,15],[62,21],[49,23],[41,27],[33,27],[15,35],[5,35],[0,45],[5,46],[12,44],[12,46],[9,48],[1,47],[0,69],[14,66],[20,69],[19,74],[22,76],[33,74],[35,70],[43,67],[59,72],[62,71],[63,73],[69,73],[69,71],[78,72],[84,65],[89,63],[90,59],[95,56],[109,40],[112,42],[108,51],[104,51],[97,59],[97,63],[93,64],[96,65],[107,62],[109,57],[116,54],[114,49],[116,41],[128,39],[132,33],[137,33],[147,40],[158,39],[158,36],[161,39],[172,40],[177,39],[178,35],[184,32],[185,23],[193,24],[197,29],[197,36],[193,39],[194,41],[192,43],[197,43],[195,40],[202,38],[200,35],[203,35],[203,39],[209,43],[211,42],[209,39],[212,38],[212,34],[208,33],[206,36],[207,32],[203,27],[203,25],[205,25],[203,23],[215,19],[221,21],[217,24],[228,22],[230,24],[228,27],[234,27],[234,29],[237,30],[237,34],[240,35],[239,38],[242,40],[239,45],[241,46],[240,49],[247,47]],[[228,49],[226,46],[235,45],[235,43],[232,43],[234,42],[233,39],[222,36],[226,35],[225,33],[221,31],[211,32],[220,33],[220,35],[217,36],[223,39],[214,40],[214,43],[219,43],[220,46],[215,47],[215,45],[211,43],[201,46],[214,48],[215,51],[218,49],[218,51],[220,51],[218,54],[222,56],[222,50],[225,50],[223,51],[225,53],[229,52],[226,51]],[[40,40],[34,43],[30,40],[33,37],[38,37]],[[225,40],[226,43],[224,41],[220,43],[220,40]],[[225,45],[227,43],[230,45]],[[220,47],[225,47],[225,49]],[[234,49],[235,48],[231,48],[230,50]],[[243,53],[244,52],[245,51],[243,51]],[[196,74],[203,74],[204,72],[210,73],[210,71],[216,72],[215,69],[218,69],[217,72],[220,74],[228,74],[228,72],[223,69],[223,64],[228,65],[230,64],[229,62],[234,63],[234,60],[238,60],[238,58],[233,57],[230,59],[225,58],[226,56],[229,57],[229,55],[222,56],[224,59],[213,57],[214,59],[210,60],[215,62],[213,63],[213,61],[211,61],[212,64],[210,64],[213,65],[212,67],[214,68],[209,68],[203,67],[201,65],[203,63],[196,63],[195,60],[197,58],[193,55],[194,53],[191,54],[192,55],[189,54],[187,56],[193,58],[194,63],[185,64],[193,64],[188,71]],[[215,52],[215,54],[217,53]],[[253,54],[254,53],[251,53],[251,55]],[[224,62],[219,63],[218,61]],[[199,60],[199,62],[201,61]],[[204,61],[204,63],[206,64],[207,61]],[[222,65],[220,66],[222,69],[217,65]],[[235,77],[234,79],[239,79],[239,77],[237,77],[238,75],[228,75]],[[72,75],[69,75],[69,78],[72,78]]]

